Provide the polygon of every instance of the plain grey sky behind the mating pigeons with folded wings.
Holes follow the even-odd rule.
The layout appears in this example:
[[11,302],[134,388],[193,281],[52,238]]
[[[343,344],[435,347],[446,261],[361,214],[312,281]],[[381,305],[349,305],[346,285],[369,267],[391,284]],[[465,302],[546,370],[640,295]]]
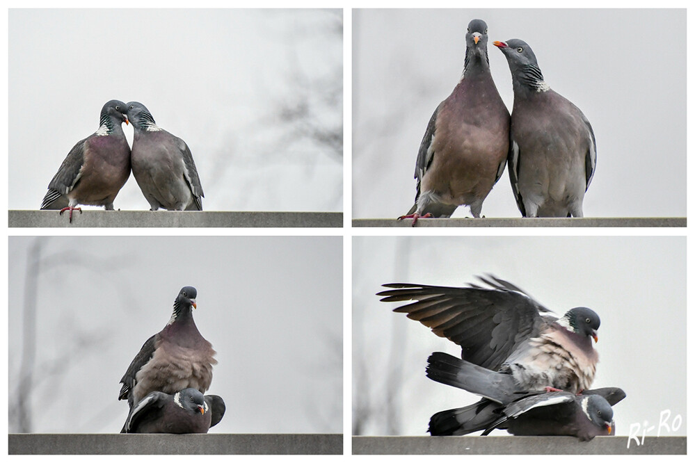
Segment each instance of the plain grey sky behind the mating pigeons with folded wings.
[[211,432],[342,432],[342,238],[10,238],[10,395],[37,239],[33,432],[118,432],[120,378],[187,285],[227,405]]

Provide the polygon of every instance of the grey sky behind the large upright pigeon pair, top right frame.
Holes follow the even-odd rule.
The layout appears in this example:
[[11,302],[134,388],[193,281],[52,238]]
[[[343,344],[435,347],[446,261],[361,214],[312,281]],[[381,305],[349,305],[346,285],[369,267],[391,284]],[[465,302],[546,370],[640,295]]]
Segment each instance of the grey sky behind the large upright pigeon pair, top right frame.
[[[686,215],[686,10],[407,9],[353,12],[353,214],[390,218],[415,197],[415,158],[433,111],[463,72],[471,19],[489,28],[497,90],[511,74],[493,40],[534,50],[550,87],[596,133],[587,217]],[[483,204],[520,217],[507,172]],[[468,207],[455,217],[470,217]]]

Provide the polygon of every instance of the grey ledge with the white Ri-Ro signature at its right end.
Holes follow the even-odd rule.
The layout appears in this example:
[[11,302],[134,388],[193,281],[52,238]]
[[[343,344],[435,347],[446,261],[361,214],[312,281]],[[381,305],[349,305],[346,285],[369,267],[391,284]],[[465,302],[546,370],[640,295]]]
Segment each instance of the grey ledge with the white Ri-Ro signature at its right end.
[[[641,441],[640,441],[641,444]],[[461,436],[352,438],[354,455],[685,455],[685,437],[646,437],[643,445],[628,437],[595,437],[581,442],[575,437]]]

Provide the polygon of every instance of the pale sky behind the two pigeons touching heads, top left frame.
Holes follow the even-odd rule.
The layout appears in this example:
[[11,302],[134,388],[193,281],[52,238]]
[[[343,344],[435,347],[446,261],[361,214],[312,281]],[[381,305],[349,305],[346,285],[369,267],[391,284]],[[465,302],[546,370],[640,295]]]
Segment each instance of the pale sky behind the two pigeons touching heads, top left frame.
[[[305,132],[342,132],[342,52],[341,10],[10,10],[10,209],[120,99],[189,145],[205,210],[340,211],[342,153]],[[133,177],[114,206],[150,209]]]

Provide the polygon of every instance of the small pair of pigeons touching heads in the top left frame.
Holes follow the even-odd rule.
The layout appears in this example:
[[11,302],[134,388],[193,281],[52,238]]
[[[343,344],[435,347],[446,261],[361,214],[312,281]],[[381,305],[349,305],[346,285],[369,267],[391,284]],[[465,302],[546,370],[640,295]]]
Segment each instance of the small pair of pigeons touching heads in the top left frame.
[[[133,124],[133,148],[122,123]],[[152,211],[202,211],[202,186],[188,145],[161,129],[145,105],[116,99],[104,104],[99,129],[70,150],[48,186],[41,209],[82,210],[78,204],[104,206],[130,177],[131,168]]]

